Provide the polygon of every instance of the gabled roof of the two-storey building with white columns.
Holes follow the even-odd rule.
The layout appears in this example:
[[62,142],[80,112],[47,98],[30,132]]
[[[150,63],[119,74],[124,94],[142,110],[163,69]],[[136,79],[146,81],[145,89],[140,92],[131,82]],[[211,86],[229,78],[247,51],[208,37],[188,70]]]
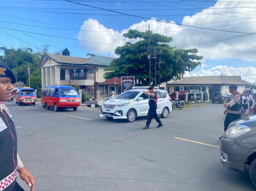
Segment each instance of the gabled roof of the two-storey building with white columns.
[[108,66],[114,58],[106,56],[92,56],[89,58],[74,57],[74,56],[62,56],[58,54],[44,54],[40,61],[39,66],[43,64],[48,58],[53,59],[58,64],[65,65],[91,65],[91,66]]

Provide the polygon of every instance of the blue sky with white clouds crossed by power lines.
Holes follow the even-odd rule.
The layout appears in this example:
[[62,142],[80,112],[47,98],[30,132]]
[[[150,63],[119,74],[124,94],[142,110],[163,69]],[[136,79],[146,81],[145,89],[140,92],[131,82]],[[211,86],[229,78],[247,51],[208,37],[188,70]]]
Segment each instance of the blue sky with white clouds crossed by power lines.
[[173,38],[170,46],[204,57],[185,77],[241,75],[254,83],[255,22],[256,0],[0,0],[0,46],[117,57],[115,48],[132,41],[124,33],[150,25]]

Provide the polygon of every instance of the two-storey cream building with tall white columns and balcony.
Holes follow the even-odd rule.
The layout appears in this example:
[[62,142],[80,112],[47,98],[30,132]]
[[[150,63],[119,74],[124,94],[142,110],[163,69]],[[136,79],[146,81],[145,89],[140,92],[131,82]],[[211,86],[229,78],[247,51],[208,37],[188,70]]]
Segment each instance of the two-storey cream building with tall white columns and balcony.
[[[78,84],[85,94],[97,98],[97,91],[104,92],[104,68],[114,58],[93,56],[89,58],[44,54],[39,64],[42,74],[42,88],[52,85]],[[62,74],[61,74],[62,73]]]

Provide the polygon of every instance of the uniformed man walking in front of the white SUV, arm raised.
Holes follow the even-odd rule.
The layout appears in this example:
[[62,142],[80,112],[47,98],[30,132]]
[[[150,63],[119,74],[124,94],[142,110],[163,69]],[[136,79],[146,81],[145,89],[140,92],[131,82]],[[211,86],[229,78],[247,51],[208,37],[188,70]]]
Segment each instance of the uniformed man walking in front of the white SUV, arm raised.
[[161,120],[159,119],[158,114],[156,113],[156,109],[157,109],[157,93],[154,93],[154,86],[150,86],[148,89],[149,92],[146,92],[145,90],[143,90],[143,93],[145,95],[147,95],[148,97],[148,105],[150,106],[150,108],[148,109],[147,112],[147,122],[146,122],[146,126],[143,127],[143,129],[148,129],[151,123],[152,118],[154,117],[155,120],[157,121],[158,125],[156,127],[161,127],[163,126]]

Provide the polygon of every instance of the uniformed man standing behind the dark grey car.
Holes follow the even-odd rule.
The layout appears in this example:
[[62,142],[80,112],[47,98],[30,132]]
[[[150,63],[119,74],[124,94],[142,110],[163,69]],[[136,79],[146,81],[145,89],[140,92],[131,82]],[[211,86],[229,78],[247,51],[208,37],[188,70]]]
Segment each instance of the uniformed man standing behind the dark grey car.
[[[240,119],[242,117],[241,115],[241,109],[242,109],[242,96],[241,93],[237,91],[237,85],[231,84],[229,87],[229,93],[231,93],[228,102],[223,104],[223,107],[225,107],[225,111],[223,112],[224,115],[226,115],[225,121],[224,121],[224,132],[227,130],[229,123],[232,121],[235,121],[237,119]],[[221,139],[219,137],[219,139]]]

